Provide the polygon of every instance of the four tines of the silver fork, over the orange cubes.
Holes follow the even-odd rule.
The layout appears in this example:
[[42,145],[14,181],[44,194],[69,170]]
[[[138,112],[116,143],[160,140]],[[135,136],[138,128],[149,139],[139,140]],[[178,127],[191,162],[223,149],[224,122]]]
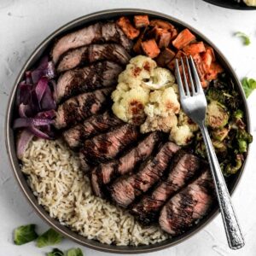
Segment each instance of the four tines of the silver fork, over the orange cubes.
[[[183,59],[185,61],[185,64],[183,63]],[[180,59],[180,63],[181,66],[179,65],[179,61],[177,59],[175,60],[176,78],[180,95],[195,96],[197,93],[202,91],[202,87],[193,58],[191,55],[189,56],[189,59],[187,56],[185,56]],[[193,75],[191,73],[191,70]]]

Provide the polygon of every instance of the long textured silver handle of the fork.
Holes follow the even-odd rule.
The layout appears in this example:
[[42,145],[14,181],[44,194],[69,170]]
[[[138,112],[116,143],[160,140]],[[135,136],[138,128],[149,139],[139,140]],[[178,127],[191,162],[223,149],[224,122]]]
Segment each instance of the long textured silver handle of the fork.
[[207,156],[217,192],[218,204],[224,222],[224,229],[228,238],[229,246],[231,249],[239,249],[244,246],[244,239],[242,237],[241,229],[236,218],[236,213],[232,207],[230,193],[224,181],[224,177],[218,164],[218,159],[214,148],[212,147],[212,141],[207,131],[206,125],[204,123],[201,124],[200,129],[207,148]]

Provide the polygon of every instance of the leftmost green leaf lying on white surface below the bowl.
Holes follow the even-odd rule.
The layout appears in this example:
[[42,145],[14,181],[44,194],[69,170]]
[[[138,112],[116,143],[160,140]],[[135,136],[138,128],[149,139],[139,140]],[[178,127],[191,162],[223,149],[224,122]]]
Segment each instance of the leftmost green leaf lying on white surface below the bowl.
[[15,244],[21,245],[35,240],[38,234],[35,231],[35,224],[23,225],[15,229]]

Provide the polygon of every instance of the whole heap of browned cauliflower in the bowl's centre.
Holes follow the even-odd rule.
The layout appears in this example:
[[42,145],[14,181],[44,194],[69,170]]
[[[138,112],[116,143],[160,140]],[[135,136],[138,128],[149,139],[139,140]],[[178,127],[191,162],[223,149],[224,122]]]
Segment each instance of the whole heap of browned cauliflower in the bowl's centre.
[[180,109],[177,84],[172,73],[157,67],[151,58],[138,55],[119,74],[112,93],[113,113],[127,123],[140,125],[142,133],[164,131],[178,145],[190,143],[198,130]]

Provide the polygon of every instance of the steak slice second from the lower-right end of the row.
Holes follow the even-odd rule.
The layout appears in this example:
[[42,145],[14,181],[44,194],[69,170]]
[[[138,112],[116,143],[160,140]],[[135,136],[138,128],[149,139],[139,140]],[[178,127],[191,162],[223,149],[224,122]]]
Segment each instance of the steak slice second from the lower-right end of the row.
[[144,224],[157,220],[161,207],[178,189],[181,189],[199,171],[200,160],[193,154],[180,150],[174,157],[166,180],[145,195],[141,201],[131,208],[134,214]]

